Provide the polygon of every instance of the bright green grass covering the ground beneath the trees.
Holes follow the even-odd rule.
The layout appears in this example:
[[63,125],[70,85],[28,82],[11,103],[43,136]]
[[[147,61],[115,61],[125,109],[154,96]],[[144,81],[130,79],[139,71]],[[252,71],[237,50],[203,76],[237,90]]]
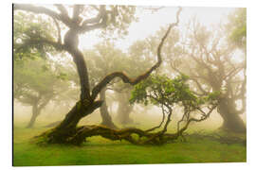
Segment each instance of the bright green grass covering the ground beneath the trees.
[[92,137],[82,146],[29,143],[46,128],[14,127],[13,165],[86,165],[247,161],[247,148],[241,144],[220,144],[207,139],[155,145],[134,145]]

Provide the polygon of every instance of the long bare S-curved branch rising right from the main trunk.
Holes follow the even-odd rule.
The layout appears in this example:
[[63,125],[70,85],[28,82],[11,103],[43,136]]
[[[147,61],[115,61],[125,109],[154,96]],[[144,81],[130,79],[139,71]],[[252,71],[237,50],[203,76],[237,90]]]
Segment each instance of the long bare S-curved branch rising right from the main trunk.
[[92,90],[92,99],[95,99],[97,97],[97,95],[101,92],[101,89],[103,87],[105,87],[110,81],[112,81],[114,78],[119,77],[122,79],[122,81],[124,83],[129,83],[131,85],[136,85],[137,83],[139,83],[141,80],[147,78],[148,76],[150,76],[150,74],[160,66],[161,62],[162,62],[162,57],[161,57],[161,49],[163,46],[163,43],[165,42],[167,36],[169,35],[171,29],[174,26],[177,26],[179,23],[179,14],[181,12],[182,8],[179,8],[176,14],[176,22],[171,24],[168,27],[168,30],[166,31],[165,35],[163,36],[161,42],[159,43],[158,47],[157,47],[157,62],[155,63],[154,66],[152,66],[146,73],[144,73],[143,75],[137,76],[137,78],[132,79],[129,76],[126,76],[124,73],[122,72],[114,72],[108,76],[105,76],[100,83],[98,83]]

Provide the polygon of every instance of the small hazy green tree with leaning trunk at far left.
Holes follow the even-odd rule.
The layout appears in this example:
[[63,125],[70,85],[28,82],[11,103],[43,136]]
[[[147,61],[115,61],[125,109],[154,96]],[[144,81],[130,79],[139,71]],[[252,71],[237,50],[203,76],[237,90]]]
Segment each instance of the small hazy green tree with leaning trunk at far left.
[[14,98],[32,107],[32,115],[27,127],[33,127],[36,118],[49,101],[68,88],[64,74],[46,67],[45,59],[15,60],[13,72]]

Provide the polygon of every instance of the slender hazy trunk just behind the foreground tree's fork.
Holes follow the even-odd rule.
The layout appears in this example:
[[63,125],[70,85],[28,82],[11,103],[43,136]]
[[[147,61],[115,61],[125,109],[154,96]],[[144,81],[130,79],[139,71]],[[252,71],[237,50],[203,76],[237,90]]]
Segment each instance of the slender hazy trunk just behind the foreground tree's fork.
[[101,125],[110,127],[110,128],[117,128],[115,124],[112,121],[112,118],[107,110],[107,105],[106,105],[106,88],[103,88],[100,93],[101,101],[103,101],[100,111],[101,111]]

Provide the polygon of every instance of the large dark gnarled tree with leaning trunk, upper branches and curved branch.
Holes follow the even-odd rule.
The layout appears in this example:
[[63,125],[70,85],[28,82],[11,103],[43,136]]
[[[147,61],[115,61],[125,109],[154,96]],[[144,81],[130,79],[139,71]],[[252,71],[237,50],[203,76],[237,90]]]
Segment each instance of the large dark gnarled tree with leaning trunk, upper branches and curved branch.
[[[141,80],[147,78],[151,75],[151,73],[159,67],[162,62],[161,59],[161,48],[164,44],[165,39],[167,38],[170,30],[176,26],[179,22],[179,13],[181,8],[177,11],[176,19],[177,21],[174,24],[171,24],[161,39],[157,47],[157,62],[144,74],[137,76],[136,78],[130,78],[123,74],[122,72],[114,72],[111,73],[101,81],[95,85],[92,89],[89,85],[89,76],[87,71],[86,63],[83,59],[83,55],[81,50],[78,48],[79,44],[79,35],[82,33],[89,32],[90,30],[99,29],[99,28],[106,28],[108,26],[119,26],[125,27],[125,24],[129,24],[130,20],[124,20],[121,22],[121,19],[125,13],[126,17],[127,14],[134,12],[134,7],[124,7],[124,6],[82,6],[82,5],[75,5],[72,7],[71,15],[67,12],[67,9],[63,5],[55,5],[58,9],[58,12],[45,8],[45,7],[36,7],[31,5],[14,5],[14,10],[27,10],[37,14],[46,14],[47,16],[51,17],[57,26],[58,31],[58,38],[56,39],[48,39],[47,37],[42,37],[40,34],[32,34],[33,36],[29,36],[27,40],[27,44],[42,44],[42,45],[49,45],[54,47],[60,51],[66,51],[69,53],[76,66],[78,75],[80,78],[80,85],[81,85],[81,95],[80,101],[76,103],[76,105],[70,110],[64,120],[60,125],[48,130],[46,133],[42,134],[41,137],[45,138],[46,143],[59,143],[59,144],[81,144],[83,141],[84,133],[85,135],[89,135],[90,131],[82,130],[82,134],[80,130],[83,127],[77,127],[79,121],[91,114],[94,110],[97,110],[101,107],[102,102],[101,100],[97,99],[101,90],[105,88],[105,86],[111,82],[113,79],[119,77],[124,83],[129,83],[131,85],[136,85]],[[86,18],[86,12],[88,12],[89,8],[93,8],[95,12],[98,14],[93,18]],[[85,14],[84,14],[85,12]],[[83,16],[82,16],[83,15]],[[59,23],[64,24],[67,27],[67,32],[64,35],[64,42],[61,38],[61,31]],[[32,32],[33,33],[33,32]],[[97,129],[93,134],[97,133]],[[104,136],[104,135],[103,135]]]

